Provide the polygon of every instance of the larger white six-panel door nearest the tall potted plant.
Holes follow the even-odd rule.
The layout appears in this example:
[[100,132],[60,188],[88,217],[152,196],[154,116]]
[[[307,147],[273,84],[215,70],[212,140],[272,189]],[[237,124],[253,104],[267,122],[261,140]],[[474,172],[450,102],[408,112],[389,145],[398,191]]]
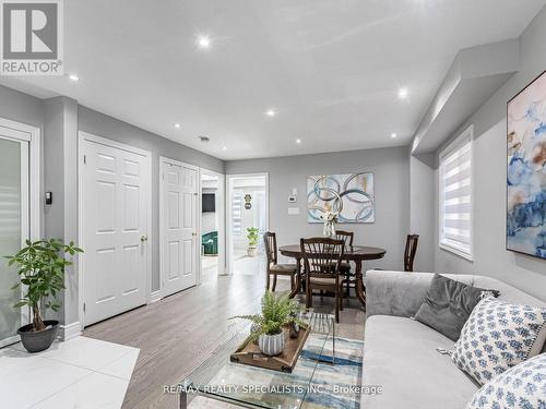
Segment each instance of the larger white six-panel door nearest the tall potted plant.
[[82,139],[85,325],[146,303],[150,154]]

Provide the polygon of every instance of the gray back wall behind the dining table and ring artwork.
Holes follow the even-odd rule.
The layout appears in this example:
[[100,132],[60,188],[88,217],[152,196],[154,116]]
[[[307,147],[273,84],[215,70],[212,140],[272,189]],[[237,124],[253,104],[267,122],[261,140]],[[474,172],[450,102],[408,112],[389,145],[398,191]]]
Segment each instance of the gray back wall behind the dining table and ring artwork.
[[[307,176],[375,173],[376,222],[342,225],[355,232],[355,243],[387,249],[382,261],[368,262],[364,268],[402,268],[405,234],[408,229],[410,158],[406,147],[287,156],[226,163],[226,173],[269,172],[270,230],[277,233],[280,245],[298,243],[301,237],[322,234],[322,225],[307,222]],[[298,202],[288,203],[293,188]],[[288,216],[288,207],[299,207],[298,216]]]

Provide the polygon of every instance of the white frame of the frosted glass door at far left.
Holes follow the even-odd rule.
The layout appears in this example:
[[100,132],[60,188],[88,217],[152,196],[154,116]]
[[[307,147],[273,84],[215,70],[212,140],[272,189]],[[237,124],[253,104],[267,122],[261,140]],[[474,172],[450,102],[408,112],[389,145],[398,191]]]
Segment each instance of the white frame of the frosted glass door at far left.
[[[0,117],[0,128],[8,130],[10,135],[5,135],[7,140],[15,142],[28,142],[28,156],[26,158],[28,168],[28,191],[26,197],[22,195],[22,201],[26,202],[28,215],[26,222],[23,225],[25,228],[28,240],[35,241],[40,239],[41,232],[41,141],[40,129],[37,127],[28,125],[12,121]],[[23,165],[23,164],[22,164]],[[22,206],[23,207],[23,206]],[[25,238],[25,239],[26,239]],[[22,240],[23,241],[23,240]],[[28,318],[27,310],[21,309],[21,324]],[[0,340],[0,348],[20,340],[19,335]]]

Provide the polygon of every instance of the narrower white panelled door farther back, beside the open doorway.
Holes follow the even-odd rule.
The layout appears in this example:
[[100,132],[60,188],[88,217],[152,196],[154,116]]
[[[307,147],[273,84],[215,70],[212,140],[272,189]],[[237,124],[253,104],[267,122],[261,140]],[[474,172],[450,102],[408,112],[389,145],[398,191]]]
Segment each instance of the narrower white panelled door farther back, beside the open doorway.
[[176,160],[162,166],[163,296],[195,285],[198,266],[198,168]]

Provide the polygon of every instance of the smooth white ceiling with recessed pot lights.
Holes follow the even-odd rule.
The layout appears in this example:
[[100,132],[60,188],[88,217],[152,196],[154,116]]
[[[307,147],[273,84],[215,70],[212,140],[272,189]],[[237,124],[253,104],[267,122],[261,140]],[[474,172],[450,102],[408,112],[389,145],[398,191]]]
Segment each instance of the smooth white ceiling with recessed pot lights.
[[545,3],[67,0],[66,71],[80,82],[0,82],[223,159],[407,145],[455,53],[518,37]]

